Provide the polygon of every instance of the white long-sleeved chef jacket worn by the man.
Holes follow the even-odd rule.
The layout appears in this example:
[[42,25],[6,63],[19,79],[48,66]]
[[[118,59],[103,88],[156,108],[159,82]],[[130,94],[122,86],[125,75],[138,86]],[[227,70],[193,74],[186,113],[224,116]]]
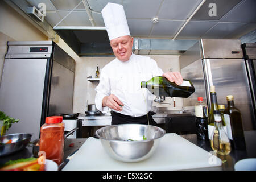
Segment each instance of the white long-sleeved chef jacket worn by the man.
[[162,74],[162,69],[150,57],[132,54],[127,61],[115,58],[102,68],[100,83],[95,89],[97,109],[106,113],[109,107],[102,107],[102,99],[114,94],[124,106],[122,111],[113,111],[133,117],[146,115],[155,96],[147,88],[141,88],[141,82]]

